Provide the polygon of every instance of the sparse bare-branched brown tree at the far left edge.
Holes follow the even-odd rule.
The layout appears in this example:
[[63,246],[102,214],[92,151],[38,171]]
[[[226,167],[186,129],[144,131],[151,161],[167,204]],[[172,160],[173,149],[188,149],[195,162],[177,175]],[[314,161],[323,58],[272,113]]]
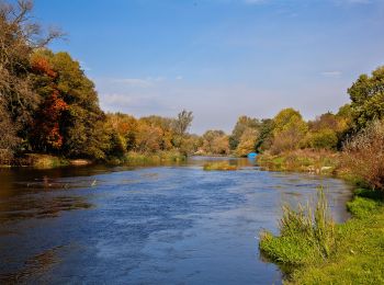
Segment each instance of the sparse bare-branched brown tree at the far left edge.
[[0,121],[12,125],[8,128],[11,132],[0,129],[0,146],[10,156],[22,149],[26,126],[39,103],[31,87],[30,56],[61,35],[54,30],[44,35],[39,25],[31,21],[32,9],[27,0],[13,5],[0,2]]

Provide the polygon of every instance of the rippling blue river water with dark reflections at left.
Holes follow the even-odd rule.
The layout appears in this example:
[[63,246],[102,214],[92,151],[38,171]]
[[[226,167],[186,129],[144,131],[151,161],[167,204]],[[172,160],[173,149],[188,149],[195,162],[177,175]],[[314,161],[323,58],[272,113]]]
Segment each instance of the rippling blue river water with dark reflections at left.
[[281,202],[323,185],[334,217],[348,217],[336,179],[259,170],[163,167],[0,170],[0,283],[280,284],[258,251],[278,232]]

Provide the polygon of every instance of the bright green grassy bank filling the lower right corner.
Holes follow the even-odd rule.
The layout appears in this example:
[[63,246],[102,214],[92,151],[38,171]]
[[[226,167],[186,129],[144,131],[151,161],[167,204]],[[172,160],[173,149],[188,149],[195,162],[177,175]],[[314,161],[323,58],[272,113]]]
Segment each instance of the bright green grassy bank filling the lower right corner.
[[[260,249],[289,273],[285,283],[384,284],[383,192],[358,190],[348,209],[353,215],[350,220],[335,225],[334,230],[324,228],[323,233],[334,231],[331,239],[323,242],[326,251],[313,246],[308,225],[295,224],[294,219],[290,219],[290,225],[296,230],[285,232],[281,226],[279,237],[261,233]],[[300,210],[295,213],[298,215]]]

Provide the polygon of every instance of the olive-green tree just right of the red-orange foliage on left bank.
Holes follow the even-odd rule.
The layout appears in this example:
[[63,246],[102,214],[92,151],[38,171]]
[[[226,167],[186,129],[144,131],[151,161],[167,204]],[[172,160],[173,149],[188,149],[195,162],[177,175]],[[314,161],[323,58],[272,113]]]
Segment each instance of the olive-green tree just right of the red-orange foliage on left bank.
[[60,126],[64,153],[70,157],[92,158],[94,153],[98,158],[105,157],[102,152],[108,149],[105,140],[109,134],[103,133],[105,114],[100,110],[93,82],[67,53],[43,50],[41,54],[58,73],[56,88],[68,104]]

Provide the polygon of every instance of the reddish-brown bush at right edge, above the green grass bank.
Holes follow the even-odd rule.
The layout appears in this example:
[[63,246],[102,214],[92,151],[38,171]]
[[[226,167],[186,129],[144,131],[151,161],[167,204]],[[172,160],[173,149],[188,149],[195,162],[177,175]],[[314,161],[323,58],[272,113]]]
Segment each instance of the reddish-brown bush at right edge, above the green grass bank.
[[370,187],[384,189],[384,123],[374,121],[343,146],[345,166]]

